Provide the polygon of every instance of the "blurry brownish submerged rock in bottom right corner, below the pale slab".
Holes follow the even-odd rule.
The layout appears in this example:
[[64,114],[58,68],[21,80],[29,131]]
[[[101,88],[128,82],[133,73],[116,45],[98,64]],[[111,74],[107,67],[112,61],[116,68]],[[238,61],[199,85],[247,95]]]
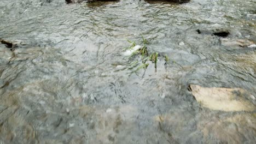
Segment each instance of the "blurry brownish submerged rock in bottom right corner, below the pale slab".
[[[222,118],[212,116],[197,123],[197,129],[202,132],[203,137],[206,140],[208,139],[208,141],[219,140],[223,143],[255,143],[255,114],[238,113],[231,116],[222,115]],[[250,132],[248,133],[248,131]]]

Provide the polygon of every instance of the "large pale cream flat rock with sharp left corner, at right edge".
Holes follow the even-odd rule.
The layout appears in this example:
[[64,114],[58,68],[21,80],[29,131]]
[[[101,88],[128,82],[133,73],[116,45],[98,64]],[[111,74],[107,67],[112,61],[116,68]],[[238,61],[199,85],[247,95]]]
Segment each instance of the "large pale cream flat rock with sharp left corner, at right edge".
[[220,111],[254,111],[255,106],[244,96],[251,95],[242,88],[201,87],[190,85],[195,99],[203,106]]

